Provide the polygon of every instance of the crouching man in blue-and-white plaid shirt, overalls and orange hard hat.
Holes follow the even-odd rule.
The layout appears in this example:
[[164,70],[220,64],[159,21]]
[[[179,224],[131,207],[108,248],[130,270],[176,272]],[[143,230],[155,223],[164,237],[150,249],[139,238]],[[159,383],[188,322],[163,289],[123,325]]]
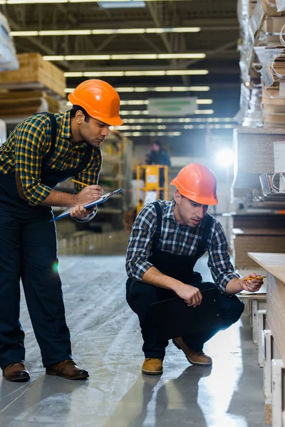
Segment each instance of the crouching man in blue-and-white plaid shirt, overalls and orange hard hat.
[[[224,230],[207,214],[208,206],[218,203],[214,173],[202,164],[188,164],[171,184],[177,188],[174,200],[148,204],[138,214],[126,258],[127,301],[140,320],[145,353],[142,373],[150,375],[162,374],[168,344],[157,336],[151,304],[178,296],[195,310],[202,302],[201,290],[214,289],[222,327],[173,339],[191,364],[211,365],[211,357],[203,352],[204,342],[239,320],[244,303],[235,294],[256,292],[263,283],[255,279],[255,273],[245,281],[234,272]],[[214,283],[202,282],[193,270],[206,251]]]

